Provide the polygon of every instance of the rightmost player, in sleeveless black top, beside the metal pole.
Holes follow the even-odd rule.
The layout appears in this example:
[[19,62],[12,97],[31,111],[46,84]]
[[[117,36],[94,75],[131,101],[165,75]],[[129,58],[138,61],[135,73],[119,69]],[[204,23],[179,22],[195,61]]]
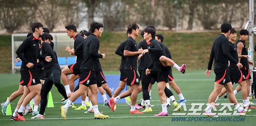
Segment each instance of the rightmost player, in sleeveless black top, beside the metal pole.
[[[248,39],[248,31],[246,29],[242,29],[240,31],[240,39],[237,41],[236,43],[236,46],[237,46],[237,53],[238,55],[248,55],[248,52],[247,52],[247,48],[246,48],[246,44],[245,44],[245,41]],[[243,67],[240,68],[240,70],[242,71],[243,75],[245,76],[245,81],[246,81],[246,84],[247,84],[247,102],[249,104],[249,109],[255,109],[254,106],[251,106],[250,105],[250,85],[251,85],[251,82],[250,82],[250,79],[251,79],[251,74],[250,74],[250,69],[249,69],[249,65],[252,65],[253,66],[253,63],[252,61],[248,60],[248,58],[239,58],[239,63],[242,63]],[[237,88],[234,90],[234,94],[237,94],[238,91],[240,91],[242,88],[240,85],[237,86]]]

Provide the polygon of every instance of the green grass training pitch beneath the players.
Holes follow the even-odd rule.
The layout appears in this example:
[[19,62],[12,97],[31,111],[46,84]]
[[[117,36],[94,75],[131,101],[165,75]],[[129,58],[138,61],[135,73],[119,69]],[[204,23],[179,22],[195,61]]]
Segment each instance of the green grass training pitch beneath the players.
[[[191,108],[191,103],[207,103],[208,97],[210,93],[212,92],[214,88],[214,77],[213,74],[211,77],[207,78],[204,75],[203,70],[196,70],[196,71],[187,71],[185,75],[182,75],[181,73],[174,71],[174,79],[177,85],[179,85],[182,94],[187,99],[186,107],[187,110]],[[119,72],[104,72],[105,75],[108,74],[119,74]],[[0,74],[0,92],[1,97],[0,101],[5,102],[6,98],[11,95],[12,92],[18,89],[18,82],[20,79],[19,74]],[[116,82],[118,84],[118,82]],[[237,84],[234,85],[234,88],[237,86]],[[173,92],[174,90],[171,89]],[[143,126],[156,126],[156,125],[175,125],[175,126],[183,126],[183,125],[221,125],[221,126],[238,126],[243,124],[243,126],[255,126],[255,117],[256,117],[256,110],[252,110],[251,113],[247,114],[244,117],[244,121],[240,122],[234,122],[231,120],[231,122],[213,122],[213,121],[204,121],[204,122],[198,122],[198,121],[172,121],[173,117],[172,113],[174,112],[174,107],[171,106],[170,109],[168,109],[168,117],[153,117],[154,114],[157,114],[159,111],[161,111],[161,103],[159,101],[159,96],[157,93],[157,85],[155,84],[153,86],[152,90],[152,99],[151,104],[154,105],[152,107],[153,112],[151,113],[145,113],[141,115],[130,115],[129,109],[130,107],[126,104],[117,104],[117,110],[115,112],[110,111],[109,107],[103,106],[103,104],[99,104],[99,111],[103,112],[105,115],[109,115],[109,119],[102,119],[102,120],[95,120],[93,118],[93,114],[85,114],[84,111],[74,110],[72,108],[68,109],[67,114],[67,120],[64,121],[61,119],[60,116],[60,106],[63,104],[60,104],[60,100],[62,99],[61,95],[56,90],[56,87],[53,86],[53,89],[51,90],[53,94],[53,101],[57,102],[54,103],[54,108],[46,108],[46,119],[30,119],[32,117],[31,114],[25,115],[26,121],[10,121],[10,116],[0,116],[0,122],[1,126],[21,126],[21,125],[55,125],[55,126],[67,126],[67,125],[88,125],[88,126],[124,126],[124,125],[143,125]],[[179,97],[174,92],[175,99],[177,102],[179,101]],[[139,103],[139,100],[142,97],[142,93],[138,95],[137,103]],[[242,97],[241,93],[238,92],[236,95],[238,102],[242,103]],[[14,111],[16,107],[16,103],[18,102],[18,99],[15,99],[11,102],[12,112]],[[221,97],[218,100],[218,103],[228,103],[229,101],[227,99],[224,99]],[[256,102],[256,100],[252,100],[252,102]],[[76,106],[80,106],[80,104],[76,104]],[[254,105],[255,106],[255,105]],[[217,106],[217,110],[221,109],[222,106]],[[198,108],[198,106],[196,106]],[[203,106],[202,109],[205,109],[206,106]],[[231,106],[232,109],[234,109],[233,106]],[[224,110],[228,110],[227,108]],[[143,111],[143,110],[140,110]],[[183,108],[182,111],[184,112]],[[202,113],[203,111],[201,111]],[[178,112],[180,113],[180,112]],[[200,112],[198,112],[200,113]],[[199,117],[199,116],[188,116],[188,117]],[[200,116],[204,117],[204,116]],[[221,117],[240,117],[240,116],[221,116]]]

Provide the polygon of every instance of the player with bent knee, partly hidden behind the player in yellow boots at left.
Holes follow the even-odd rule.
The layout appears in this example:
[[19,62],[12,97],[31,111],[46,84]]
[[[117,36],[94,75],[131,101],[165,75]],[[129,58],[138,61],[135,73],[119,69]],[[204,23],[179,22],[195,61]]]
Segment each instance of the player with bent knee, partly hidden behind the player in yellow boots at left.
[[[80,36],[79,34],[77,34],[77,28],[73,24],[65,26],[65,29],[67,31],[67,35],[70,38],[74,39],[74,49],[77,49],[77,46],[84,40],[84,38],[82,36]],[[68,65],[61,70],[61,80],[64,84],[64,87],[65,87],[68,97],[70,97],[72,92],[70,91],[70,86],[68,84],[67,75],[70,75],[70,74],[74,74],[75,76],[78,75],[80,73],[79,68],[80,68],[82,60],[83,60],[81,54],[77,54],[76,56],[77,56],[77,59],[74,64]],[[74,77],[74,76],[72,76],[72,77]],[[65,104],[66,102],[67,101],[63,101],[63,104]]]

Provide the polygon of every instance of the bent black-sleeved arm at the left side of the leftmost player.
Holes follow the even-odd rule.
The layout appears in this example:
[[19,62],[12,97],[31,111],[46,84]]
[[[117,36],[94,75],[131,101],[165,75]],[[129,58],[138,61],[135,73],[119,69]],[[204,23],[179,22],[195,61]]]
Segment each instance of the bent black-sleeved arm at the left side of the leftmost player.
[[23,51],[28,48],[29,43],[32,43],[32,42],[29,41],[28,39],[26,39],[25,41],[23,41],[21,43],[21,45],[19,45],[19,48],[16,50],[17,58],[20,58],[21,61],[23,61],[23,63],[25,63],[25,65],[27,65],[29,62],[23,56]]

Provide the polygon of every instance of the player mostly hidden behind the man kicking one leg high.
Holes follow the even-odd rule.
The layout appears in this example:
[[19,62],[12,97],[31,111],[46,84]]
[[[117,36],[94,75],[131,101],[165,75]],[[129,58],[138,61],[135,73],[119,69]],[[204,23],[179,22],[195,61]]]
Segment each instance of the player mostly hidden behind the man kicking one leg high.
[[[164,37],[161,34],[156,34],[155,39],[158,42],[163,43]],[[163,44],[163,47],[164,47],[165,53],[167,54],[167,58],[172,59],[172,55],[171,55],[169,49],[164,44]],[[168,89],[170,89],[170,87],[169,87],[169,85],[170,85],[172,87],[172,89],[175,90],[175,92],[178,94],[179,99],[180,99],[179,104],[186,102],[186,99],[184,98],[184,96],[181,93],[181,89],[174,81],[174,77],[172,76],[172,68],[170,68],[170,73],[168,75],[168,78],[169,78],[169,82],[167,83],[166,87]],[[169,98],[167,98],[167,108],[170,108],[170,99]]]

